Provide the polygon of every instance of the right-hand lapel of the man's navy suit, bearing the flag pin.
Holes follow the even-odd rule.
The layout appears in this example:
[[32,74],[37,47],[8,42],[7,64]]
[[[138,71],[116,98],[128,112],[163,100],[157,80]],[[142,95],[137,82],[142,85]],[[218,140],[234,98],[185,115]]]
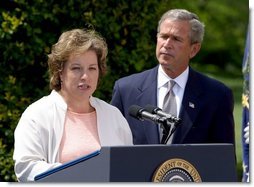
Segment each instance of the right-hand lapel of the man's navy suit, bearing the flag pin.
[[202,101],[199,97],[203,91],[201,88],[202,85],[199,83],[197,76],[197,73],[190,68],[180,112],[182,124],[175,132],[173,143],[177,144],[183,142],[200,111]]

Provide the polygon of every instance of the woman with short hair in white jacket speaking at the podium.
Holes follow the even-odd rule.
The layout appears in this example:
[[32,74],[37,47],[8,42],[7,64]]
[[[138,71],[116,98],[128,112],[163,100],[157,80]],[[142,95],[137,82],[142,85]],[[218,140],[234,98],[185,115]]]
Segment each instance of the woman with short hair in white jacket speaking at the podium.
[[132,145],[129,125],[114,106],[93,96],[106,73],[107,44],[94,30],[62,33],[48,55],[51,93],[32,103],[15,129],[18,181],[101,146]]

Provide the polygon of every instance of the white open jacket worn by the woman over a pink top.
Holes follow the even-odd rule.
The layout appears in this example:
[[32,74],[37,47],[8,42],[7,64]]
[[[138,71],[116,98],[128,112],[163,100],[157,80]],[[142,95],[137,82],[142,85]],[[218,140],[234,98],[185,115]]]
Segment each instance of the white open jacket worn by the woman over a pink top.
[[[116,107],[95,97],[90,103],[96,110],[101,146],[133,145],[128,122]],[[67,104],[54,90],[24,111],[14,132],[14,170],[19,181],[33,181],[61,165],[58,151],[66,111]]]

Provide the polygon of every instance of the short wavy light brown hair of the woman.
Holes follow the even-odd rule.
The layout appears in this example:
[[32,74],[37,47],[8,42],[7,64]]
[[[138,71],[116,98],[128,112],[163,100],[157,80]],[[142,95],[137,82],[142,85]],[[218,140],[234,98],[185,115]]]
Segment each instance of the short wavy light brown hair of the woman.
[[73,29],[63,32],[48,55],[50,88],[61,90],[60,72],[70,55],[79,55],[88,50],[95,51],[99,66],[99,79],[105,75],[108,48],[105,39],[95,30]]

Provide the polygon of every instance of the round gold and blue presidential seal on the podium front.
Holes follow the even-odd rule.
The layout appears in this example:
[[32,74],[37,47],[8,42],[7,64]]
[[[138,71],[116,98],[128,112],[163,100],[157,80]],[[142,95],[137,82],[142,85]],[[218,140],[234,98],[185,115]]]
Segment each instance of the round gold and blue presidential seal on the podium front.
[[157,168],[153,182],[202,182],[202,180],[196,168],[186,160],[170,159]]

